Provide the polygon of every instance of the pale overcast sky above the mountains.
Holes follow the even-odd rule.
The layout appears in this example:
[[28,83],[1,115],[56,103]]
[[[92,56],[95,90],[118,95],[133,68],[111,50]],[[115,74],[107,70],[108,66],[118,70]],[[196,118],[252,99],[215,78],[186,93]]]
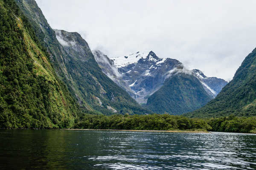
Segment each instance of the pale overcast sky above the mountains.
[[208,77],[233,78],[256,47],[256,0],[36,0],[52,28],[109,57],[152,50]]

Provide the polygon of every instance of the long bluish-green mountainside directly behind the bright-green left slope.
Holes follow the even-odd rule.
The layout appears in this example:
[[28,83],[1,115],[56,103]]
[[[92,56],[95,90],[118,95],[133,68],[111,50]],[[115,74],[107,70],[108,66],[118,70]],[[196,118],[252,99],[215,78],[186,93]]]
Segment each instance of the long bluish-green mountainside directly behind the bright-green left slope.
[[55,71],[82,108],[104,114],[148,113],[102,73],[87,42],[78,33],[52,30],[34,0],[16,2],[51,54]]

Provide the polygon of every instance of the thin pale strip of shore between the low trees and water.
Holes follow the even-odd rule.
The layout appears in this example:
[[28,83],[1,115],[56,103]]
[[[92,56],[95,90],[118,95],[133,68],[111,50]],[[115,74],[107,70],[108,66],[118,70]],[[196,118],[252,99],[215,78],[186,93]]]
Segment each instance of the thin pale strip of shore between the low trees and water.
[[155,133],[210,133],[208,131],[192,130],[118,130],[118,129],[64,129],[64,130],[93,130],[93,131],[121,131],[121,132],[155,132]]

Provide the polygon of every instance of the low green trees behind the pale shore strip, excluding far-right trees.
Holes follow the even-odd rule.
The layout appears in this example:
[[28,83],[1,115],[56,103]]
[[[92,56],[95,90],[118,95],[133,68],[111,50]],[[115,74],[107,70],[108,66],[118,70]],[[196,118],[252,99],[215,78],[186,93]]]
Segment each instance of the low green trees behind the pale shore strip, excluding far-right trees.
[[119,130],[211,130],[203,119],[169,114],[152,115],[84,115],[75,128]]

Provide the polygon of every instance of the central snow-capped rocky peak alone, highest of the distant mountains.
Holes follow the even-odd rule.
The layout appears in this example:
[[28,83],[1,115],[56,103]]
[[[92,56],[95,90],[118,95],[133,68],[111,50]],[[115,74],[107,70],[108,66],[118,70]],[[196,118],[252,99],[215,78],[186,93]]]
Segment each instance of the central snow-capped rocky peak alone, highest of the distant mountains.
[[147,96],[157,91],[168,78],[168,71],[180,69],[181,62],[176,59],[160,58],[153,51],[136,52],[123,57],[111,58],[122,74],[124,82],[134,91],[139,103],[146,103]]

